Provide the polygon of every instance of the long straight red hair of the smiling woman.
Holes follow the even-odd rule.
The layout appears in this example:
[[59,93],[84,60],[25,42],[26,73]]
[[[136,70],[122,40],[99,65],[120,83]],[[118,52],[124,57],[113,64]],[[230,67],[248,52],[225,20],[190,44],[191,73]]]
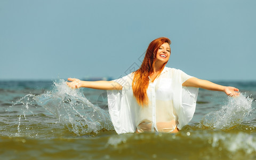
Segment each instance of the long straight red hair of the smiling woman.
[[[148,105],[148,95],[147,89],[149,85],[149,78],[150,74],[154,72],[154,65],[156,61],[156,53],[159,47],[164,44],[169,43],[171,44],[170,39],[165,37],[160,37],[152,41],[145,54],[145,58],[140,66],[140,68],[134,71],[134,78],[132,81],[132,90],[135,99],[137,100],[140,106],[147,106]],[[162,70],[167,62],[164,63]]]

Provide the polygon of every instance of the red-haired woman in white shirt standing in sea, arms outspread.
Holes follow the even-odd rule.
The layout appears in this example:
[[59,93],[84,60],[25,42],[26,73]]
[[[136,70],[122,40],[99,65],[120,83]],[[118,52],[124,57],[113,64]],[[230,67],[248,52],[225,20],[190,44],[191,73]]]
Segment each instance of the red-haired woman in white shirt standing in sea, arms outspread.
[[114,81],[86,82],[68,78],[75,89],[89,87],[108,90],[108,107],[116,132],[176,133],[192,119],[198,87],[239,95],[235,87],[222,86],[165,67],[170,58],[171,41],[161,37],[152,41],[141,67]]

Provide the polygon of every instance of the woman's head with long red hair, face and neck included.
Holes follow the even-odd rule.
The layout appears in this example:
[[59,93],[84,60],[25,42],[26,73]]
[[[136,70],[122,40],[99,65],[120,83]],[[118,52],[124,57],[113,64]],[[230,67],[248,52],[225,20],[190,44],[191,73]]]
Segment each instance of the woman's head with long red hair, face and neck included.
[[[158,38],[152,41],[147,49],[141,67],[135,71],[132,83],[133,95],[139,105],[148,105],[147,88],[150,81],[154,82],[169,60],[171,41]],[[168,50],[168,51],[167,51]],[[164,55],[164,57],[162,56]],[[136,83],[135,83],[136,82]]]

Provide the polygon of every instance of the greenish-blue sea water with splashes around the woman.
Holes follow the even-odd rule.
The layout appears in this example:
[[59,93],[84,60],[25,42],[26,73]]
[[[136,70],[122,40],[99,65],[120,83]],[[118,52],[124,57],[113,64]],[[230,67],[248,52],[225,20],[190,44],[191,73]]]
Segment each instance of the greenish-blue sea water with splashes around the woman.
[[255,159],[254,82],[239,97],[199,90],[191,122],[177,134],[116,134],[106,91],[54,82],[0,82],[3,159]]

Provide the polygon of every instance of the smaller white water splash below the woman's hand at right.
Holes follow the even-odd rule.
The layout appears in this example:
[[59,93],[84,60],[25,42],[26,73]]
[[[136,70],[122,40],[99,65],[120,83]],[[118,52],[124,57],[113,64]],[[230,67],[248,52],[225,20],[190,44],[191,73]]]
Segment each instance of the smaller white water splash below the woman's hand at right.
[[222,106],[218,111],[212,111],[205,115],[199,123],[199,127],[230,130],[243,122],[243,119],[252,111],[252,98],[245,97],[243,94],[239,97],[229,97],[227,105]]

